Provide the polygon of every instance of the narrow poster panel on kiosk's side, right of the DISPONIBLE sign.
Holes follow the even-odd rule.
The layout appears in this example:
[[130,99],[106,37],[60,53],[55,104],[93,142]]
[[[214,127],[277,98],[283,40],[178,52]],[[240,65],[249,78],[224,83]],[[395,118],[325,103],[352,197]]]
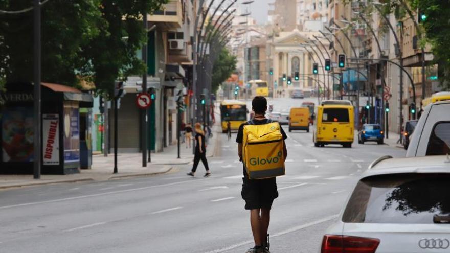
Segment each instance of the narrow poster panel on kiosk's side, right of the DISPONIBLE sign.
[[64,162],[80,162],[80,119],[77,105],[64,104]]

